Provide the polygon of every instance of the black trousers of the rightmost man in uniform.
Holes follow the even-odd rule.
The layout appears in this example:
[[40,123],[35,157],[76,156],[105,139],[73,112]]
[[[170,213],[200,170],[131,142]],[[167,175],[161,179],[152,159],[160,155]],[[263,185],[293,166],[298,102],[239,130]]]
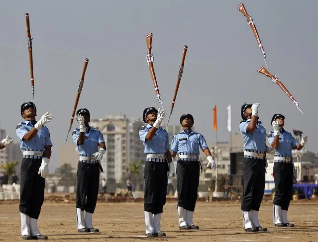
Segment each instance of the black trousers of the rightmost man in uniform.
[[275,198],[273,204],[288,210],[293,192],[294,167],[293,163],[274,163]]

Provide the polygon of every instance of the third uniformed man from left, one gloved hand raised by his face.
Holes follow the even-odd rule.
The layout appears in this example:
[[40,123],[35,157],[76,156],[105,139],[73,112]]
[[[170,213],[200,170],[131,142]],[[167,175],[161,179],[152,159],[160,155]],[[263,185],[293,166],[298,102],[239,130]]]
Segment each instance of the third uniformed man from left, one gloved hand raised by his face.
[[142,119],[148,124],[139,130],[144,153],[147,155],[144,172],[144,215],[147,237],[166,236],[161,231],[160,220],[163,205],[166,203],[167,172],[169,169],[170,176],[175,176],[175,168],[169,151],[169,136],[167,131],[160,126],[166,115],[164,110],[157,110],[154,107],[145,108]]

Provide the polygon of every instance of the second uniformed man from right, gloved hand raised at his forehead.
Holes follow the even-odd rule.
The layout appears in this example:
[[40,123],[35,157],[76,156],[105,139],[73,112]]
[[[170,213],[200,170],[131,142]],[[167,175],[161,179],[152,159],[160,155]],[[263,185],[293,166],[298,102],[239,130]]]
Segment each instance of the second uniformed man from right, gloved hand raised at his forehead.
[[261,227],[258,211],[265,190],[266,154],[274,149],[266,146],[266,130],[258,120],[259,103],[244,104],[241,107],[239,129],[244,142],[244,158],[242,161],[244,191],[241,210],[243,211],[243,227],[246,232],[267,231]]

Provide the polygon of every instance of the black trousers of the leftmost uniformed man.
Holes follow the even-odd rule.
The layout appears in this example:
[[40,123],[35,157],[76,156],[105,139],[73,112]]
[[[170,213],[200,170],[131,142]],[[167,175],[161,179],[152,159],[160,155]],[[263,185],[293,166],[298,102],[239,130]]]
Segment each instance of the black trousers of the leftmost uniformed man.
[[38,219],[44,201],[45,179],[38,174],[42,159],[23,158],[21,163],[20,212]]

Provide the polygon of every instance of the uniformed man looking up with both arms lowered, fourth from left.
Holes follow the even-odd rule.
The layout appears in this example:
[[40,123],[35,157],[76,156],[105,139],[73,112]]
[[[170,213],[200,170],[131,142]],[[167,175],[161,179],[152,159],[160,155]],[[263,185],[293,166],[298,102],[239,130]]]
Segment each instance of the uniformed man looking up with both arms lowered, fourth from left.
[[178,154],[177,162],[177,191],[178,191],[178,218],[181,230],[198,230],[199,226],[193,223],[193,212],[198,197],[200,170],[200,150],[206,154],[208,167],[215,170],[215,162],[209,147],[202,134],[191,130],[194,119],[191,114],[183,114],[180,124],[184,130],[172,138],[172,157]]

